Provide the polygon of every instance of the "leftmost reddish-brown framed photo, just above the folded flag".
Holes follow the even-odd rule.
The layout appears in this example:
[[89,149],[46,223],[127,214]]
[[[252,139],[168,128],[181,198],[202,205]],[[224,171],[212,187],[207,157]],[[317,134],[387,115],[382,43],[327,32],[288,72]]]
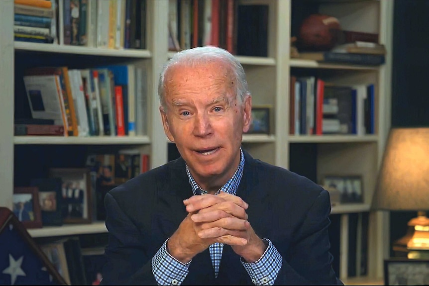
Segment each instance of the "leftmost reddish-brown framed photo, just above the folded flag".
[[26,228],[42,227],[37,187],[15,187],[13,189],[13,213]]

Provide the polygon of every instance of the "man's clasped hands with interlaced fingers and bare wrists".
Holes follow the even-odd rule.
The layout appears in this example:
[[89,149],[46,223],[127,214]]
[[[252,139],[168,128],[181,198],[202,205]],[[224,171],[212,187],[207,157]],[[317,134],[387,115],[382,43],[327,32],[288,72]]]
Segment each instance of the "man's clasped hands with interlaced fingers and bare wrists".
[[266,246],[247,221],[248,204],[239,196],[194,195],[184,200],[188,215],[167,243],[168,252],[187,263],[215,242],[228,244],[246,262],[257,261]]

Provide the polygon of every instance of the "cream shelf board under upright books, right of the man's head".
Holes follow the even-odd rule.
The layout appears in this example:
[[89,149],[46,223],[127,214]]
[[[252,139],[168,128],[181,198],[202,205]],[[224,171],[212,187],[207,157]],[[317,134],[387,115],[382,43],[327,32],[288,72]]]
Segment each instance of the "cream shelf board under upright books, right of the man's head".
[[291,135],[290,143],[347,143],[347,142],[377,142],[378,135]]

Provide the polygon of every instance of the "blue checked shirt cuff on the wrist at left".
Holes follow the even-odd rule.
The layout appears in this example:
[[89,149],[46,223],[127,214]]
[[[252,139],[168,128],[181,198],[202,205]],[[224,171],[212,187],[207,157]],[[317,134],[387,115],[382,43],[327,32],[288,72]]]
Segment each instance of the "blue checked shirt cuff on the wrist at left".
[[191,261],[183,264],[167,251],[167,241],[152,258],[152,273],[158,285],[181,285],[189,272]]

